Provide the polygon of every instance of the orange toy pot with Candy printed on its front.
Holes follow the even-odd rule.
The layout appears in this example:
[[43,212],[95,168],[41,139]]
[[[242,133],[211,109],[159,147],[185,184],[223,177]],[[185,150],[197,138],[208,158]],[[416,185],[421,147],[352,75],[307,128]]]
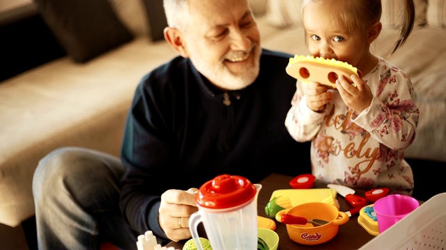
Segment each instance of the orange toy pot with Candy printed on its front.
[[305,203],[293,208],[281,210],[276,214],[278,222],[282,222],[282,215],[294,215],[307,219],[323,219],[327,224],[316,226],[311,223],[305,225],[286,224],[286,231],[291,240],[300,244],[314,245],[328,242],[339,231],[339,225],[348,222],[348,215],[337,210],[331,204],[323,202]]

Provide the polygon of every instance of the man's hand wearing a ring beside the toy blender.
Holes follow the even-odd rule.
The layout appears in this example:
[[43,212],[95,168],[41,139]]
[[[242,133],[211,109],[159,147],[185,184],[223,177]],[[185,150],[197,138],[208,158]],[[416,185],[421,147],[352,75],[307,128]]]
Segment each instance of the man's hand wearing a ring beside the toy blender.
[[160,226],[167,237],[174,242],[191,238],[189,217],[197,212],[195,196],[197,188],[184,190],[167,190],[161,195],[158,215]]

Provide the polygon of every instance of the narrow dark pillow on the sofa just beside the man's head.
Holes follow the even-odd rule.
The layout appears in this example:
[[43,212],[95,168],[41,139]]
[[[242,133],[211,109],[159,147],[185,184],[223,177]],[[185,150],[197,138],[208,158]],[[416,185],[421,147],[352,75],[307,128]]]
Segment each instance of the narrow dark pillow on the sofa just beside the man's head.
[[146,6],[146,14],[151,27],[152,41],[164,39],[164,28],[167,27],[167,19],[164,14],[164,7],[160,0],[143,0]]

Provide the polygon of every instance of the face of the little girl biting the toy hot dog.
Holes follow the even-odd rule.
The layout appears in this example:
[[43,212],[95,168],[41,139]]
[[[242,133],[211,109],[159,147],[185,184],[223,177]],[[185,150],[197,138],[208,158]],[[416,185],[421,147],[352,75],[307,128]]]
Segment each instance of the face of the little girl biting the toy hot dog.
[[349,31],[336,17],[333,1],[311,3],[303,11],[309,52],[314,57],[340,60],[361,69],[369,55],[369,44],[364,32]]

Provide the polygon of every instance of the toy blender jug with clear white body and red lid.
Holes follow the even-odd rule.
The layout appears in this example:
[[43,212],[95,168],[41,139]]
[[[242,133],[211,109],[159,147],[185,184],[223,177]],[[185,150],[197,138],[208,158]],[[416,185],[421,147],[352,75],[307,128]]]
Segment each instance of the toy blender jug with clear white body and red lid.
[[213,249],[257,249],[257,196],[261,187],[229,174],[204,183],[195,199],[199,210],[189,220],[197,249],[203,250],[197,233],[200,222]]

